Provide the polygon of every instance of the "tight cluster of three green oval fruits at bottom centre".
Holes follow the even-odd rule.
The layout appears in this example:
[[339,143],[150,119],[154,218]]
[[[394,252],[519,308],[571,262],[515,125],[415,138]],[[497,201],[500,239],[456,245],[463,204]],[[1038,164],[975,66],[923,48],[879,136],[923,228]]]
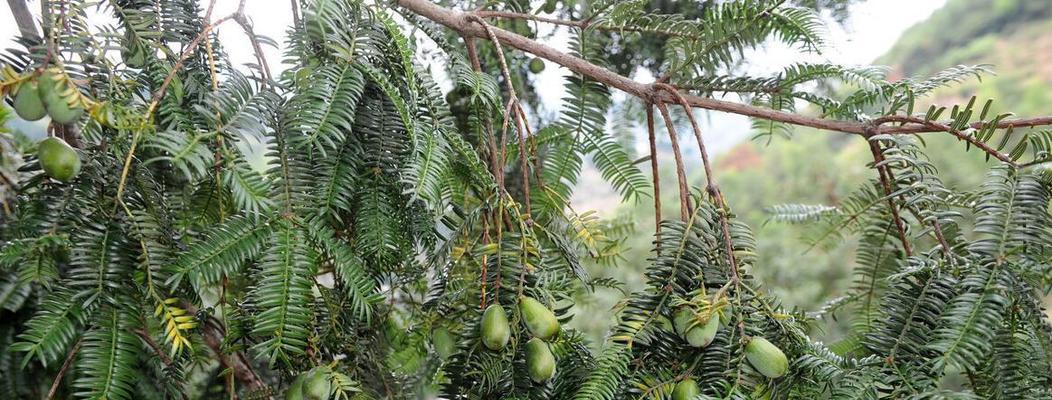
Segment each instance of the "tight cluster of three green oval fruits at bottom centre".
[[[543,383],[555,375],[555,357],[545,342],[559,333],[555,314],[531,297],[519,299],[519,312],[526,328],[533,338],[526,342],[526,368],[530,379]],[[511,339],[508,316],[500,304],[491,304],[482,314],[482,344],[492,351],[500,351]]]

